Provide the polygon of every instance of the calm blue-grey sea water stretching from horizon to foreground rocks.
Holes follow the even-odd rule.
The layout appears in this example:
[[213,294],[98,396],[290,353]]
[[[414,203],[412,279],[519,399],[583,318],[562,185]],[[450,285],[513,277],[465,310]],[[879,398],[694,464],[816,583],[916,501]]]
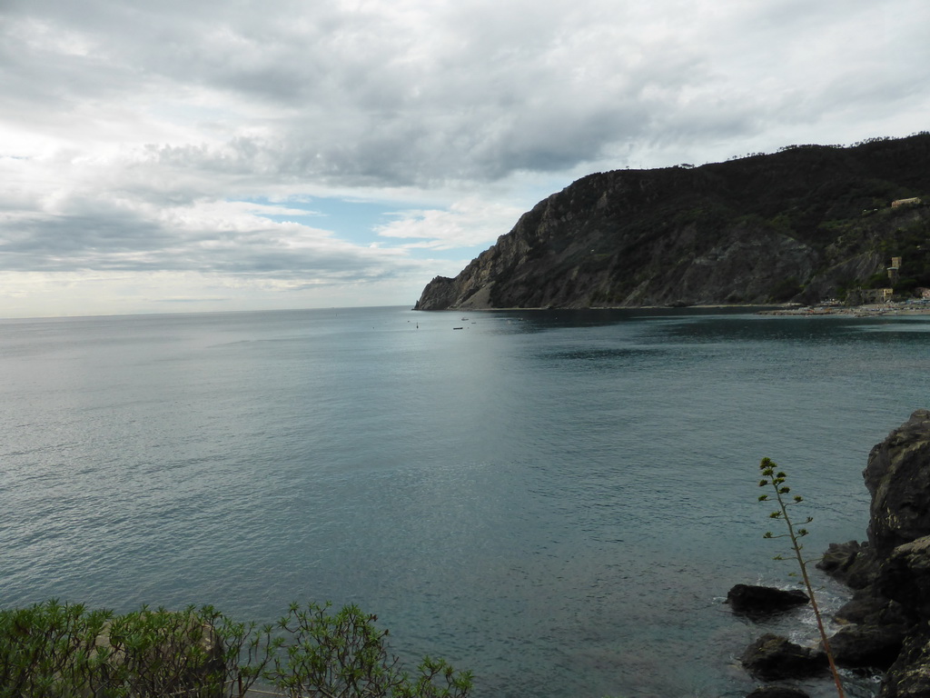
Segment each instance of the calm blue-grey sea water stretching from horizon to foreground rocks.
[[928,375],[921,317],[7,320],[0,606],[357,602],[479,698],[744,695],[768,628],[722,597],[790,584],[759,459],[810,503],[809,548],[861,539],[867,454]]

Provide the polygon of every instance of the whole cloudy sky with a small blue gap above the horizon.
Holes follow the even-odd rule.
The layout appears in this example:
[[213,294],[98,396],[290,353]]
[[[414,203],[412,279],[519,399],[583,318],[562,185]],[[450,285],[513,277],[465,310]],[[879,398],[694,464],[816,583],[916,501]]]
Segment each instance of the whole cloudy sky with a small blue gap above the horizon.
[[0,317],[412,305],[593,171],[930,128],[926,0],[0,0]]

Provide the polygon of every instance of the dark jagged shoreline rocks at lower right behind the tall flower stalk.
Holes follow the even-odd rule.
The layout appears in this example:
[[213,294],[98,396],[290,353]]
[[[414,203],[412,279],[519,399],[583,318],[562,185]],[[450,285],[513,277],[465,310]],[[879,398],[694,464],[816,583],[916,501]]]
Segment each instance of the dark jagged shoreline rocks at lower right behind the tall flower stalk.
[[[835,614],[830,650],[842,667],[883,672],[880,698],[930,696],[930,411],[918,409],[876,445],[863,472],[871,494],[868,540],[831,544],[817,567],[853,590]],[[764,613],[803,602],[798,593],[738,584],[735,612]],[[792,594],[792,597],[785,595]],[[770,606],[770,604],[772,604]],[[762,680],[826,670],[821,648],[763,635],[743,654]]]

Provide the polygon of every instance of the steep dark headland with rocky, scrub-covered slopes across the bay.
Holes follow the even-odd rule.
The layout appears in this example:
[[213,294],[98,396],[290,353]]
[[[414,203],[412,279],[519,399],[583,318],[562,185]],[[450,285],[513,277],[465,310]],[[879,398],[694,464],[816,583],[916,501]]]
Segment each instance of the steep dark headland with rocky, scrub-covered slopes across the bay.
[[[930,134],[593,174],[525,213],[454,279],[434,278],[416,308],[811,302],[919,249],[930,207],[889,204],[927,194]],[[908,263],[910,281],[930,286],[930,255]]]

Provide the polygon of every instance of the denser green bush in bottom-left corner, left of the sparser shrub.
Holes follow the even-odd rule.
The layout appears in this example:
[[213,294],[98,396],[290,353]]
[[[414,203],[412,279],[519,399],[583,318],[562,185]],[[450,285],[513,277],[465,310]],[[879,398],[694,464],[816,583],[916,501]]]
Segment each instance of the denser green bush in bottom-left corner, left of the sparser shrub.
[[0,611],[0,698],[242,698],[278,644],[209,606],[116,615],[52,599]]

